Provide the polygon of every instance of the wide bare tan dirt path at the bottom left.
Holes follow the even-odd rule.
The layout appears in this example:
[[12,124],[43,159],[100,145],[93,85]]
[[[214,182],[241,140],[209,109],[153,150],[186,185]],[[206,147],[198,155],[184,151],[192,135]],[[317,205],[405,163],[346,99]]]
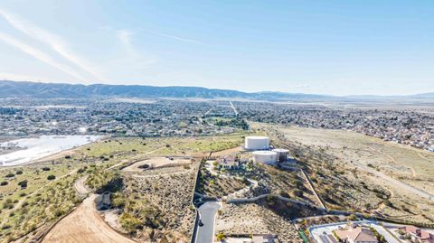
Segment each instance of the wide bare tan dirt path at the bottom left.
[[91,194],[77,210],[54,226],[42,239],[42,243],[136,242],[109,227],[106,221],[99,216],[94,206],[96,197],[96,194]]

